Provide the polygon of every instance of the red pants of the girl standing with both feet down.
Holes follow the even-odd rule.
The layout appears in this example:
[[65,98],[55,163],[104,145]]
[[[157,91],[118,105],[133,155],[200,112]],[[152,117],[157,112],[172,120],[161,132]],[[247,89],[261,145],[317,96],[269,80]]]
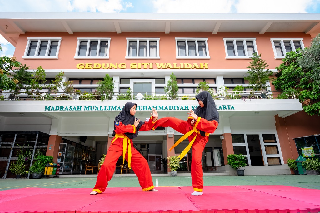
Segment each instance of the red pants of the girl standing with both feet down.
[[[106,154],[106,158],[100,168],[96,185],[92,191],[102,193],[106,190],[108,186],[108,181],[111,180],[112,175],[116,169],[116,162],[122,155],[122,138],[118,138],[109,147]],[[140,186],[143,191],[148,191],[154,188],[150,168],[147,160],[133,147],[131,148],[131,168],[137,175]],[[120,151],[114,151],[114,149],[119,149]],[[128,161],[128,151],[125,155],[125,160]]]

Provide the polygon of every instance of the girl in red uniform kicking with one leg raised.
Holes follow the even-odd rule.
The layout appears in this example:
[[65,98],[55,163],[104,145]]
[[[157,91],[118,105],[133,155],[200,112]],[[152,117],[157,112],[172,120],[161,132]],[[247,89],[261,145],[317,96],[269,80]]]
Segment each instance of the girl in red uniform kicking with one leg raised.
[[196,95],[199,106],[193,111],[189,110],[188,121],[183,121],[174,117],[161,118],[156,122],[153,130],[157,127],[171,127],[184,134],[171,148],[170,151],[181,141],[188,138],[189,145],[179,155],[180,160],[188,153],[192,146],[191,179],[194,192],[191,195],[203,194],[203,170],[202,153],[205,144],[209,140],[209,133],[213,133],[219,123],[219,113],[212,96],[207,91],[202,91]]

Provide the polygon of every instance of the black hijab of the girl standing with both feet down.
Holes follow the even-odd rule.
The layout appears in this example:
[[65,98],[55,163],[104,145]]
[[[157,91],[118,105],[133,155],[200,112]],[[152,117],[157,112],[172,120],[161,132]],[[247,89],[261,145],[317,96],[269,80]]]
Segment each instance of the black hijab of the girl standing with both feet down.
[[[134,120],[135,120],[135,117],[134,115],[131,115],[130,114],[130,109],[136,105],[137,107],[137,104],[135,103],[131,103],[131,102],[128,102],[124,105],[122,111],[116,116],[115,118],[115,127],[113,128],[113,132],[112,132],[112,135],[115,136],[116,135],[116,123],[117,122],[122,122],[124,125],[128,125],[128,124],[131,124],[133,125],[134,124]],[[139,133],[139,129],[140,127],[142,126],[144,122],[140,121],[140,123],[138,124],[138,126],[136,127],[136,133],[124,133],[128,138],[130,139],[133,139],[133,138],[136,138],[138,136],[138,133]]]

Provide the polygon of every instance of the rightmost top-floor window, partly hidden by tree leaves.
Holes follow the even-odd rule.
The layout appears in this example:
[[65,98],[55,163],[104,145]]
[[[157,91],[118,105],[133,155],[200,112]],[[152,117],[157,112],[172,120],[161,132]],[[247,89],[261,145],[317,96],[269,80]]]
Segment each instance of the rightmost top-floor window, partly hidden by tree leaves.
[[283,59],[286,52],[304,49],[303,38],[270,38],[275,59]]

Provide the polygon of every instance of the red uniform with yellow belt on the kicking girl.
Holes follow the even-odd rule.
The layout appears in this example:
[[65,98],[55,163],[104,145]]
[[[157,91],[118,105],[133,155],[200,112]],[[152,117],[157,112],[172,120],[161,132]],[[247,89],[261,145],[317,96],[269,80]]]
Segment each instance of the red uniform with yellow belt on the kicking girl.
[[[153,130],[157,127],[171,127],[174,130],[184,134],[182,138],[180,138],[174,146],[177,146],[182,140],[188,137],[189,145],[192,146],[192,160],[191,160],[191,179],[193,190],[196,192],[203,191],[203,169],[201,164],[202,153],[204,150],[204,146],[208,143],[209,133],[213,133],[217,127],[218,122],[208,121],[204,118],[198,117],[194,125],[191,125],[190,122],[193,120],[192,117],[188,117],[188,122],[174,118],[174,117],[166,117],[160,118],[157,120],[156,125],[152,128]],[[206,132],[206,136],[201,136],[199,130]],[[190,134],[188,136],[188,133]],[[174,147],[173,146],[173,147]],[[180,155],[184,156],[190,148],[186,148],[184,152]]]

